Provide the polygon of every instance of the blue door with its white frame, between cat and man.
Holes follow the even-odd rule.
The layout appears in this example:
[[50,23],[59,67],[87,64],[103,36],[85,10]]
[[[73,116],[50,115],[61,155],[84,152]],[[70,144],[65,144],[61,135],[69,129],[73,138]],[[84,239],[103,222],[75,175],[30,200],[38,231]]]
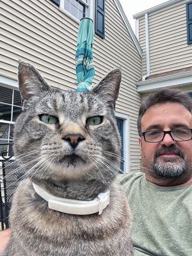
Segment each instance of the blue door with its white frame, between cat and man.
[[116,124],[122,141],[120,168],[122,173],[129,173],[129,116],[116,113]]

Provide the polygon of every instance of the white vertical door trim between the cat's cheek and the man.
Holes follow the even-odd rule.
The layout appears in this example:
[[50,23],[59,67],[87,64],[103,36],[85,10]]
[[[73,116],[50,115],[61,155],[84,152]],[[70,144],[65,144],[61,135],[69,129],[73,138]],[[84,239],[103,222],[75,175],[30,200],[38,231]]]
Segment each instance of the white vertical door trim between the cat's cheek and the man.
[[115,112],[115,117],[124,120],[124,173],[130,173],[129,115]]

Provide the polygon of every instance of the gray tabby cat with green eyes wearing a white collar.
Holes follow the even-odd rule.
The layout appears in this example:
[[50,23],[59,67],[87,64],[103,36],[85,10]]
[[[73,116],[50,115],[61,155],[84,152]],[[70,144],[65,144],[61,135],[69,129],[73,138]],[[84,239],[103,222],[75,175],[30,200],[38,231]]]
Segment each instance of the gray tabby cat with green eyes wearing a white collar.
[[[90,92],[65,91],[51,88],[33,65],[20,61],[23,111],[15,124],[14,152],[27,178],[13,198],[4,256],[133,255],[131,213],[115,181],[120,81],[116,68]],[[60,203],[52,209],[35,187],[72,205],[92,203],[99,195],[109,196],[109,204],[92,214],[86,207],[84,213],[66,213]]]

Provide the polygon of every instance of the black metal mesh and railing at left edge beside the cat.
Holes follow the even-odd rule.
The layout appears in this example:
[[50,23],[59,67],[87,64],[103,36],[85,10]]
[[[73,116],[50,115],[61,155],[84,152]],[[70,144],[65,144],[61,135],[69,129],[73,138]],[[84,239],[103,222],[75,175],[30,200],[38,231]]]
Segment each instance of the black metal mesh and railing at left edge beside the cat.
[[[12,145],[13,143],[4,143],[1,145]],[[10,213],[10,207],[12,205],[13,195],[20,179],[24,174],[17,164],[17,161],[13,159],[13,156],[6,156],[7,151],[1,151],[3,160],[2,163],[2,176],[0,177],[0,221],[1,229],[9,227],[8,216]]]

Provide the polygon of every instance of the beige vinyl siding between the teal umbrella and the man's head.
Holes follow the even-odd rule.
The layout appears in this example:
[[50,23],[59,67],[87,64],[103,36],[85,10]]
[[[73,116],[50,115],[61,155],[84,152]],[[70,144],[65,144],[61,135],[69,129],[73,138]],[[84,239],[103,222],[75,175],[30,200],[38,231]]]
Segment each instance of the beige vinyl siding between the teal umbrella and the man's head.
[[136,120],[141,99],[136,81],[141,77],[141,58],[113,1],[106,1],[106,38],[101,40],[99,36],[95,36],[93,58],[95,79],[99,80],[97,74],[104,76],[111,68],[122,68],[122,84],[116,111],[129,115],[129,164],[132,172],[138,172],[140,151]]

